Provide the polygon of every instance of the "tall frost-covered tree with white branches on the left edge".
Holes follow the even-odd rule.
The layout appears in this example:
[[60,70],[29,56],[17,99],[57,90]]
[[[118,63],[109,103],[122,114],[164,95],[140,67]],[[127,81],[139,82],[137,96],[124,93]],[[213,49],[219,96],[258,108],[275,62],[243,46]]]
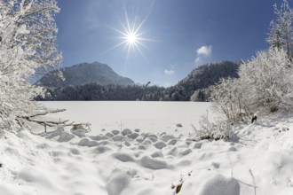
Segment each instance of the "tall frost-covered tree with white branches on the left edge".
[[0,1],[0,129],[12,129],[36,111],[42,89],[31,76],[59,64],[55,0]]

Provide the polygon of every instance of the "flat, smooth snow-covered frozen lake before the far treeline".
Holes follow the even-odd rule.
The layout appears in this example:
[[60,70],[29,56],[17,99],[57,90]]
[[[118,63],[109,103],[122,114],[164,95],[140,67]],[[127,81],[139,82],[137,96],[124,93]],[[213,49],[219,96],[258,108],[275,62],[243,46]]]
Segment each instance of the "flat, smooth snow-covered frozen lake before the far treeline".
[[198,126],[200,115],[208,110],[210,116],[213,113],[210,103],[199,102],[54,101],[42,104],[67,109],[63,113],[54,113],[53,117],[75,123],[90,122],[92,133],[99,133],[101,129],[140,129],[152,133],[176,130],[187,134],[192,125]]

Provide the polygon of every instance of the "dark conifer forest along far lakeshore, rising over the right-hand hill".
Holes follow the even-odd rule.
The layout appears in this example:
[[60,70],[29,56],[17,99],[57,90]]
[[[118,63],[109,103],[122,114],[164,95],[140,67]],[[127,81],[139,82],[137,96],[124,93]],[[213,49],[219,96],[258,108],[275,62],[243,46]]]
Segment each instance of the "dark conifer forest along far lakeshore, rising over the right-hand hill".
[[177,85],[158,86],[99,85],[96,82],[47,88],[45,97],[36,100],[143,100],[143,101],[208,101],[211,85],[220,78],[237,77],[239,64],[223,61],[195,68]]

